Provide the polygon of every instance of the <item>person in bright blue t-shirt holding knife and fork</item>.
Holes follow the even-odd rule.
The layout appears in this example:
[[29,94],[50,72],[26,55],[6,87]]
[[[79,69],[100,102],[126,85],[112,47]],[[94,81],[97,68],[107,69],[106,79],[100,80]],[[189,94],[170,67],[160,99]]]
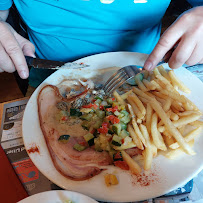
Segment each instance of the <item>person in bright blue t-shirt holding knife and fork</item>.
[[[24,55],[67,62],[103,52],[134,51],[150,54],[147,70],[167,56],[173,69],[203,63],[203,0],[188,1],[194,8],[160,37],[170,0],[0,0],[0,72],[17,70],[37,87],[51,72],[29,73]],[[27,25],[30,41],[5,22],[12,3]]]

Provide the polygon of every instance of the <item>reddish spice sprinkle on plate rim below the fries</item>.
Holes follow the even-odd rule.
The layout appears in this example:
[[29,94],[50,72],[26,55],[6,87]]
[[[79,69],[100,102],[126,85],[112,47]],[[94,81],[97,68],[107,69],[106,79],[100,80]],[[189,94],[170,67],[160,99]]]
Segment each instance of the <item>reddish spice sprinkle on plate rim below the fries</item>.
[[158,177],[155,173],[143,172],[139,175],[132,175],[132,184],[133,185],[140,185],[142,187],[146,187],[156,181],[158,181]]

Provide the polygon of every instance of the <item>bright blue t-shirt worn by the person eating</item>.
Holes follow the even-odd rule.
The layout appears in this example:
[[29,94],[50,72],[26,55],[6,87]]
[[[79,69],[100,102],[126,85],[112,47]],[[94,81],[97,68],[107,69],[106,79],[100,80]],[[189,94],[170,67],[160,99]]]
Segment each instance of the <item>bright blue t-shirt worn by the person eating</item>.
[[[149,54],[159,40],[161,19],[170,0],[13,2],[28,27],[36,55],[67,62],[109,51]],[[11,4],[12,0],[0,0],[0,10]],[[31,70],[30,85],[38,86],[50,73]]]

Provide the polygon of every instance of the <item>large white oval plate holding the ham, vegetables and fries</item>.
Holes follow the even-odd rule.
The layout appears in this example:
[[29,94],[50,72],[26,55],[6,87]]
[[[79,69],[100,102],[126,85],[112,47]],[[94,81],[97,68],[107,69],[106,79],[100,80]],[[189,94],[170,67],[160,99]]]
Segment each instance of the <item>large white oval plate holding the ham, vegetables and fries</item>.
[[[153,168],[150,172],[146,172],[143,180],[149,180],[149,185],[143,186],[138,178],[131,176],[129,173],[111,167],[98,176],[87,181],[72,181],[62,176],[54,167],[49,155],[43,134],[41,132],[37,112],[37,95],[39,90],[46,84],[56,85],[66,77],[93,77],[100,74],[100,79],[107,78],[108,67],[125,66],[130,64],[143,65],[146,55],[132,52],[111,52],[93,55],[83,58],[78,62],[90,64],[88,69],[82,70],[59,70],[47,78],[33,93],[23,118],[23,139],[26,149],[33,144],[39,147],[40,153],[29,154],[34,164],[39,170],[52,182],[60,187],[77,191],[88,195],[97,200],[129,202],[140,201],[148,198],[157,197],[170,192],[191,180],[203,168],[203,136],[195,142],[195,156],[184,154],[178,160],[168,160],[163,156],[159,156],[154,160]],[[167,68],[167,67],[166,67]],[[114,70],[115,71],[115,70]],[[106,73],[106,74],[105,74]],[[192,93],[188,95],[201,111],[203,111],[203,83],[192,73],[184,68],[175,70],[175,73],[184,83],[191,89]],[[117,186],[106,187],[104,183],[104,174],[107,172],[116,173],[119,184]],[[140,179],[139,179],[140,180]]]

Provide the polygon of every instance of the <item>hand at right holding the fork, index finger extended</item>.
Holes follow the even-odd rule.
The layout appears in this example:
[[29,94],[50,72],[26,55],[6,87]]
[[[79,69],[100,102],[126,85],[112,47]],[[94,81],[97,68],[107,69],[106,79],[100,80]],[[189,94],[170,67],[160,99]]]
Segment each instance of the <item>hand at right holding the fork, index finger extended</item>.
[[[172,48],[175,50],[172,52]],[[203,63],[203,6],[184,12],[162,35],[145,62],[144,68],[152,70],[169,57],[169,67]]]

